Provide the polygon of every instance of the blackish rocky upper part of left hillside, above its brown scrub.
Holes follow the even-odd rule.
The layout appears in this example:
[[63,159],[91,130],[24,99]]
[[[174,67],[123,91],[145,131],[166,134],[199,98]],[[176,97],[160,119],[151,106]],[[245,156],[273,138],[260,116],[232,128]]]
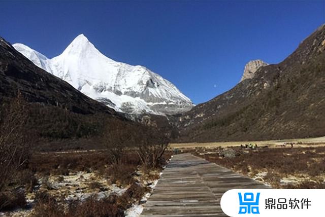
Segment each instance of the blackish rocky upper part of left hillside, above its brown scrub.
[[0,98],[21,92],[28,102],[48,104],[78,114],[117,113],[67,82],[47,73],[0,38]]

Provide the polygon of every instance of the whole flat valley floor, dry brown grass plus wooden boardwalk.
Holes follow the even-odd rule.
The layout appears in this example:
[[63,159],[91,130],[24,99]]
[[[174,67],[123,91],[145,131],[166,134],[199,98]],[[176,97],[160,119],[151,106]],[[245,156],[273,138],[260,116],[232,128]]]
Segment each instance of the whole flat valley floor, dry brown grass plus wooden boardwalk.
[[[213,207],[226,191],[225,181],[232,183],[229,188],[323,189],[324,141],[171,144],[175,155],[147,203],[166,161],[146,169],[132,151],[123,152],[118,164],[107,150],[34,153],[0,195],[0,202],[10,199],[0,216],[138,216],[142,209],[143,215],[189,214],[189,206],[197,214],[206,208],[219,213]],[[169,159],[171,152],[164,156]]]

